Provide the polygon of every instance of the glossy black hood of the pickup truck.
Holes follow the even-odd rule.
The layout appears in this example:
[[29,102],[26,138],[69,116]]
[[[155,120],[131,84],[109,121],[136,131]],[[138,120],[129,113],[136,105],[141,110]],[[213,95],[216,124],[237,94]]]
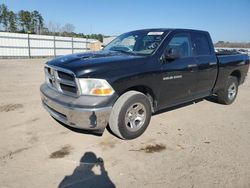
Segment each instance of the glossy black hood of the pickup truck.
[[47,62],[48,65],[70,70],[78,78],[105,78],[115,70],[126,71],[143,63],[145,56],[114,51],[98,51],[65,55]]

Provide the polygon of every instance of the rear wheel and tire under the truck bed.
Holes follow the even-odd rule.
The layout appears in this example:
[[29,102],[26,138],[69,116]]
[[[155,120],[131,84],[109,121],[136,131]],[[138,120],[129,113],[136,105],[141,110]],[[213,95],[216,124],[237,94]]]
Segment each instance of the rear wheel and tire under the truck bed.
[[235,76],[229,76],[225,88],[218,92],[218,102],[232,104],[237,97],[238,86],[238,79]]

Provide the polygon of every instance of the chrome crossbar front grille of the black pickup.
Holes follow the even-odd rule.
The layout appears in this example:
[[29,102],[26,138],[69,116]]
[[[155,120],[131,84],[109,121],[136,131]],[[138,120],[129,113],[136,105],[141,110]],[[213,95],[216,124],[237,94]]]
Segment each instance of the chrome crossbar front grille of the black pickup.
[[47,84],[53,89],[69,94],[77,95],[77,85],[73,73],[61,68],[45,67]]

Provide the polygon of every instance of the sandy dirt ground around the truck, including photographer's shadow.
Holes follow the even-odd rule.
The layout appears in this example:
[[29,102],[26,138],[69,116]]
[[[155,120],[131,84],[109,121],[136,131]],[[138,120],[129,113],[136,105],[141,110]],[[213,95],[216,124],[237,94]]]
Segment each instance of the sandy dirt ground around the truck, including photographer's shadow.
[[0,60],[0,187],[250,187],[250,80],[234,104],[153,116],[138,139],[72,132],[43,109],[45,59]]

